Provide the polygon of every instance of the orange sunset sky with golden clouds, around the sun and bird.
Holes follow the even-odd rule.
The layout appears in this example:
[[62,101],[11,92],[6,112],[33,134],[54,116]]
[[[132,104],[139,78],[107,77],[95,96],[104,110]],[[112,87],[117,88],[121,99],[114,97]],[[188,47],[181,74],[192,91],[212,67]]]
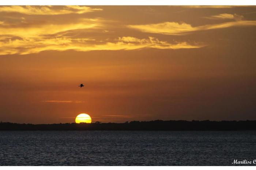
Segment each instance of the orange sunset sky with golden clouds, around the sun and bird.
[[0,6],[0,121],[256,120],[255,104],[256,6]]

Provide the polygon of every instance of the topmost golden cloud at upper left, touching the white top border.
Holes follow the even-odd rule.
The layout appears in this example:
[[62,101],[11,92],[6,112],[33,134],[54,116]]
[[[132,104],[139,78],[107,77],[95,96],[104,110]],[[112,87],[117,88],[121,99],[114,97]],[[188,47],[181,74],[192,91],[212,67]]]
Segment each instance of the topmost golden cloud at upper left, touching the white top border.
[[[54,7],[54,8],[53,8]],[[26,15],[62,15],[69,13],[87,13],[93,11],[102,11],[100,8],[91,8],[86,6],[61,6],[60,9],[55,6],[2,6],[0,12],[18,12]]]

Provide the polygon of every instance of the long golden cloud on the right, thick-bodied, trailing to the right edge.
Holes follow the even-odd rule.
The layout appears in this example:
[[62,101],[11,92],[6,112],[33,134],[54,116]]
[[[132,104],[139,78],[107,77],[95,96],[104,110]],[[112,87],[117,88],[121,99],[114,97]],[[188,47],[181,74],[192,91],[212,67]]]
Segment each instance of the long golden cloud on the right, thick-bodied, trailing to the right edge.
[[149,32],[165,35],[184,35],[189,32],[212,30],[219,28],[228,28],[234,26],[256,26],[256,21],[234,21],[220,24],[208,24],[203,26],[193,27],[187,23],[177,22],[164,22],[158,24],[145,24],[145,25],[127,25],[128,28],[139,30],[141,32]]

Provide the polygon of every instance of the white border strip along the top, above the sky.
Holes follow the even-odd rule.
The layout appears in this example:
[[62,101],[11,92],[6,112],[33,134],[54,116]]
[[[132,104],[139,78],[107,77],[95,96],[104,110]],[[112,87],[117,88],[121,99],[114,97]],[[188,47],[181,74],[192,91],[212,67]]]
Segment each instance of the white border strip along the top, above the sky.
[[255,0],[2,0],[0,5],[256,5]]

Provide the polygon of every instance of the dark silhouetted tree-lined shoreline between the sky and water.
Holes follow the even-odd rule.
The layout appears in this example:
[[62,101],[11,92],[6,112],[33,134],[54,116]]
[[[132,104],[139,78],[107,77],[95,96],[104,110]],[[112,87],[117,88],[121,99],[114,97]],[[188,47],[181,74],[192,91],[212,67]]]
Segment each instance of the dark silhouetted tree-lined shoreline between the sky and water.
[[254,131],[256,120],[246,121],[185,121],[154,120],[131,121],[130,123],[59,123],[19,124],[1,122],[0,130],[5,131]]

